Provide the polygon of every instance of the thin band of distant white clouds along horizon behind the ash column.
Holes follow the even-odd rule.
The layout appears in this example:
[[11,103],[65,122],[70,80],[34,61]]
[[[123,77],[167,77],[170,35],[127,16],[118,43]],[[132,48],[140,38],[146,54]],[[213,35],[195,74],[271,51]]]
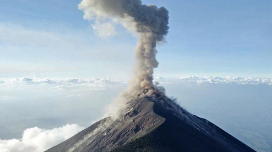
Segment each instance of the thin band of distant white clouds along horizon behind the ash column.
[[[182,76],[178,78],[166,78],[155,76],[154,81],[159,82],[161,85],[180,84],[180,83],[197,83],[197,84],[267,84],[272,85],[272,78],[255,78],[255,77],[218,77],[218,76]],[[64,86],[86,86],[90,88],[110,89],[117,86],[126,86],[127,82],[120,80],[111,80],[109,78],[91,78],[91,79],[78,79],[78,78],[14,78],[14,79],[0,79],[0,85],[51,85],[55,87]]]

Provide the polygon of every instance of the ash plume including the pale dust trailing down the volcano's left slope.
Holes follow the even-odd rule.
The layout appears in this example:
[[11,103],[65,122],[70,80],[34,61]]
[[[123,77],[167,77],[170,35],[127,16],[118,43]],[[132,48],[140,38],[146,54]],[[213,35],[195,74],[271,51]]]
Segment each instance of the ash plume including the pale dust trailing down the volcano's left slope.
[[[153,84],[153,69],[158,67],[156,60],[156,44],[164,41],[168,33],[168,10],[155,5],[143,5],[141,0],[82,0],[79,9],[84,11],[84,18],[94,21],[92,25],[100,36],[116,34],[114,24],[121,23],[127,30],[136,33],[139,37],[135,48],[136,74],[131,80],[129,90],[116,98],[118,102],[109,105],[107,113],[112,119],[98,127],[107,128],[113,120],[116,120],[123,111],[131,97],[138,94],[151,96],[153,92],[160,92]],[[98,23],[106,26],[98,26]],[[110,30],[109,30],[110,29]],[[143,93],[144,92],[144,93]],[[118,125],[116,126],[118,127]],[[79,146],[92,140],[97,131],[88,134],[69,151],[76,150]]]

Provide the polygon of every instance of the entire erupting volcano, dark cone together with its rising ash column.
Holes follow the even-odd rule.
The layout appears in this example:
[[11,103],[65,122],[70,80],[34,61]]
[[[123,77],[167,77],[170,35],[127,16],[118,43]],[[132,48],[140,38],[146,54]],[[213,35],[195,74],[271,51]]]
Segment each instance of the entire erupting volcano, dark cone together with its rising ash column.
[[79,9],[85,19],[112,26],[119,22],[137,33],[135,74],[125,97],[129,102],[117,117],[104,118],[46,152],[255,152],[190,114],[153,84],[153,70],[159,64],[156,46],[166,42],[170,28],[165,7],[141,0],[82,0]]

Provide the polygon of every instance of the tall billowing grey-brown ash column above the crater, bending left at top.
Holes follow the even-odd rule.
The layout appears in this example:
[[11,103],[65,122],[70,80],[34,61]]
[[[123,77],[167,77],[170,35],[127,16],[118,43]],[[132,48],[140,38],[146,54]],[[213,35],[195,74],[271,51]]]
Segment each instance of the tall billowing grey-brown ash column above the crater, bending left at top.
[[138,33],[136,76],[132,79],[129,93],[134,96],[143,89],[154,90],[153,68],[158,66],[155,47],[168,33],[168,10],[143,5],[141,0],[82,0],[79,9],[84,11],[85,19],[109,25],[101,27],[122,23],[128,30]]

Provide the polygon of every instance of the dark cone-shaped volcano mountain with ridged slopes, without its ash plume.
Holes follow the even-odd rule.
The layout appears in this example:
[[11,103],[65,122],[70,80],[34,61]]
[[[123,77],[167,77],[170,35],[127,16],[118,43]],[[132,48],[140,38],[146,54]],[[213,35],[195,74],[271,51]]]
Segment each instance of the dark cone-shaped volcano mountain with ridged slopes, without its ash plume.
[[174,102],[166,96],[139,95],[121,118],[102,119],[46,152],[255,152],[215,124],[169,103]]

